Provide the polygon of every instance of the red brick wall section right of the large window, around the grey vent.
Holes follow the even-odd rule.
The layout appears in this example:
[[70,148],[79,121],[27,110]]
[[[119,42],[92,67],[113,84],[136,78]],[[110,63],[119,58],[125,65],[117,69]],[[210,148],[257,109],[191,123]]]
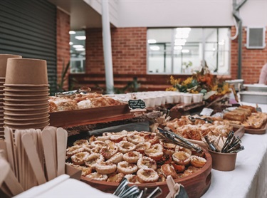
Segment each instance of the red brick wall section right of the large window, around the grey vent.
[[[231,28],[231,35],[234,36],[235,28]],[[265,36],[265,43],[267,44],[267,31]],[[262,66],[267,63],[267,47],[263,49],[247,49],[246,31],[243,28],[242,38],[242,72],[241,78],[245,83],[258,83],[258,78],[261,73]],[[238,68],[238,38],[231,41],[231,78],[237,78]]]

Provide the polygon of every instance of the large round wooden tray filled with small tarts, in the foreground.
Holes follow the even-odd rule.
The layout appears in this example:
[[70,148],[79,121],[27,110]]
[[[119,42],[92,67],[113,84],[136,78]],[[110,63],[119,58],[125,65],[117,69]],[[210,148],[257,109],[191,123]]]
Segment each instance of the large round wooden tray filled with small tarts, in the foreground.
[[166,178],[184,185],[189,197],[201,197],[211,183],[211,156],[160,139],[147,131],[103,132],[75,140],[66,151],[66,164],[83,172],[81,181],[113,193],[123,177],[130,185],[169,193]]

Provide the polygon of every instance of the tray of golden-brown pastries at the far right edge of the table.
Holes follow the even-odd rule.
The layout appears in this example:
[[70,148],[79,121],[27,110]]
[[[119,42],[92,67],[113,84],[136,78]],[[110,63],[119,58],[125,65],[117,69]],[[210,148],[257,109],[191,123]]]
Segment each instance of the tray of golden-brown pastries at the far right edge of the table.
[[265,134],[267,130],[267,114],[258,112],[256,108],[249,105],[241,105],[224,113],[224,120],[244,126],[246,133]]

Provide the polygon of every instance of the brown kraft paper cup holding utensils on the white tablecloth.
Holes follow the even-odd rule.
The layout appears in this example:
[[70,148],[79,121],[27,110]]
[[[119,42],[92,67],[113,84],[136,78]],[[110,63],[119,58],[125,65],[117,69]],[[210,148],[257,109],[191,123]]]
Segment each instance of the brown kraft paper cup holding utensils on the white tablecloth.
[[209,150],[212,158],[212,168],[220,171],[231,171],[236,167],[237,153],[221,153]]

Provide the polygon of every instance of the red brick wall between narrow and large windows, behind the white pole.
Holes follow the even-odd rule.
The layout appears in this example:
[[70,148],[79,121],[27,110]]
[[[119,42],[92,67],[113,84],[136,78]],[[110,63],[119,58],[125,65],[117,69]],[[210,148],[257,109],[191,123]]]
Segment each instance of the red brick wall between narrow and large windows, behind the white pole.
[[[86,73],[105,73],[101,28],[86,30]],[[113,73],[147,72],[147,28],[112,28]]]

